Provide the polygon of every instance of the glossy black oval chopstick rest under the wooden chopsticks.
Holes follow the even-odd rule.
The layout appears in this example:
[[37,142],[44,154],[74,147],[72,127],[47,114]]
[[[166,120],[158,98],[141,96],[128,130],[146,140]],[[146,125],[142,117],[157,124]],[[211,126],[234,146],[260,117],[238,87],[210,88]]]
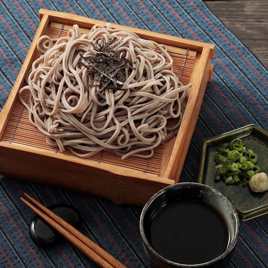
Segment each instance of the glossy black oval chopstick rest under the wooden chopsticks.
[[[48,208],[74,227],[76,227],[81,220],[80,211],[72,205],[55,204]],[[38,246],[49,246],[62,237],[38,215],[35,215],[32,219],[29,233],[32,241]]]

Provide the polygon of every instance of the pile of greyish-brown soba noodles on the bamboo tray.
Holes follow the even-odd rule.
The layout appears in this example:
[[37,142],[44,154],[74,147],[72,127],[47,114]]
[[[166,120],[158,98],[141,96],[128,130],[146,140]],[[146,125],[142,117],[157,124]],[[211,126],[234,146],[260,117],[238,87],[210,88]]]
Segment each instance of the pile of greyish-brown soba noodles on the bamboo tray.
[[[110,53],[120,54],[132,66],[120,70],[124,83],[119,90],[99,92],[96,72],[81,62],[93,53],[93,40],[101,47],[111,36],[116,41]],[[37,48],[40,57],[19,98],[49,146],[61,152],[68,148],[82,158],[102,150],[122,159],[149,158],[155,147],[175,135],[191,85],[180,83],[165,46],[107,24],[95,25],[88,34],[74,25],[66,37],[42,36]],[[30,91],[28,101],[22,97],[25,90]],[[167,127],[169,118],[178,118],[177,124]]]

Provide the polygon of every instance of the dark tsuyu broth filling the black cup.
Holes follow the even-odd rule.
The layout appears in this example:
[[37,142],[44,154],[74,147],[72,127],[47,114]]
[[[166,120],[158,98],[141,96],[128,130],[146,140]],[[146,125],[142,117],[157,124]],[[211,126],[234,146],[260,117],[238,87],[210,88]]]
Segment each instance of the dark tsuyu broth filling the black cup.
[[191,200],[164,205],[150,226],[155,251],[179,264],[211,261],[227,249],[230,239],[225,219],[210,206]]

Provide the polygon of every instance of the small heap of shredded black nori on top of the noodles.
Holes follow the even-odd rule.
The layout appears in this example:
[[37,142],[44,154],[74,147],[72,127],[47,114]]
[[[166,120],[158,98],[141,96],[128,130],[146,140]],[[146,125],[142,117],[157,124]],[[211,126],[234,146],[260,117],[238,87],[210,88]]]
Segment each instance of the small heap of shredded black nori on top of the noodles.
[[83,60],[79,62],[80,66],[87,68],[89,74],[94,74],[94,80],[88,85],[100,88],[96,94],[104,94],[106,89],[126,91],[126,69],[136,69],[133,66],[135,62],[127,60],[124,52],[119,54],[113,50],[121,43],[116,41],[117,38],[111,35],[107,42],[102,38],[102,44],[99,46],[93,38],[92,47],[89,47],[89,52],[92,54],[84,56],[80,53]]

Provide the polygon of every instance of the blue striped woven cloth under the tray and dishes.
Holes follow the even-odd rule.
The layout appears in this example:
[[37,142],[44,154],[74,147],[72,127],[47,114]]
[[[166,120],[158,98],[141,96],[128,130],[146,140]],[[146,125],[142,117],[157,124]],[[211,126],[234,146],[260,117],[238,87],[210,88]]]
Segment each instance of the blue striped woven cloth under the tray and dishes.
[[[247,124],[268,130],[267,69],[201,0],[0,0],[1,108],[38,28],[40,8],[216,45],[213,79],[206,88],[180,182],[196,181],[204,139]],[[149,267],[139,231],[141,207],[115,205],[5,176],[0,176],[0,267],[96,267],[64,239],[50,248],[32,242],[28,228],[34,213],[22,205],[24,192],[46,206],[76,206],[82,213],[82,233],[127,267]],[[267,214],[241,222],[241,235],[228,267],[268,267],[267,223]]]

